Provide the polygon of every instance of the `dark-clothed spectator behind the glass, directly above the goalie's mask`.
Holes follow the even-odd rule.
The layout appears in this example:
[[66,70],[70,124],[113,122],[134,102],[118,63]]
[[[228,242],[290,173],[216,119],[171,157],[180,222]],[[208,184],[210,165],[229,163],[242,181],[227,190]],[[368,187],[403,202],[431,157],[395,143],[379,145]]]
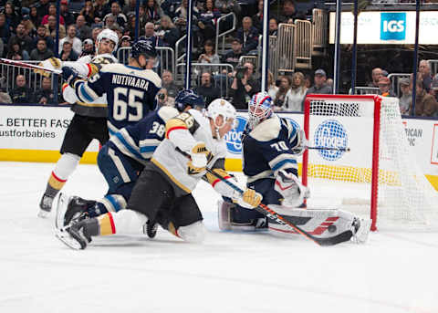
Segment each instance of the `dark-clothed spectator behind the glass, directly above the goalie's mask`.
[[245,70],[235,69],[230,95],[233,97],[235,109],[247,110],[248,101],[256,92],[260,91],[260,82],[259,79],[255,79],[254,65],[251,62],[244,64],[243,69]]

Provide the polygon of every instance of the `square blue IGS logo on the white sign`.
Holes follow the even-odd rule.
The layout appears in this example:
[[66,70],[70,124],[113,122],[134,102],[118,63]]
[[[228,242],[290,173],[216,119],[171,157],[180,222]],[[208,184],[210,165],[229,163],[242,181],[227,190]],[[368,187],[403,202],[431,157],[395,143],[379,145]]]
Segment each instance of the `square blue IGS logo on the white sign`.
[[381,13],[381,40],[406,39],[406,12]]

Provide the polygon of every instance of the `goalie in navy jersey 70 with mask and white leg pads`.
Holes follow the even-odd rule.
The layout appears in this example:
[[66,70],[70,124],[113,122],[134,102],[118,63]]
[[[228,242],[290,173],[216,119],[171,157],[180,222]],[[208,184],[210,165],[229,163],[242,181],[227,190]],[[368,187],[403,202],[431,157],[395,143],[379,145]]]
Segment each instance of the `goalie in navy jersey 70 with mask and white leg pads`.
[[[248,104],[249,119],[242,140],[247,187],[261,193],[263,203],[310,235],[328,238],[350,230],[354,241],[365,242],[370,232],[369,220],[336,209],[298,208],[309,196],[308,188],[298,181],[296,160],[305,151],[307,140],[303,130],[274,114],[272,102],[266,92],[259,92]],[[297,235],[255,210],[226,201],[219,201],[218,206],[222,230],[268,228],[273,235]]]

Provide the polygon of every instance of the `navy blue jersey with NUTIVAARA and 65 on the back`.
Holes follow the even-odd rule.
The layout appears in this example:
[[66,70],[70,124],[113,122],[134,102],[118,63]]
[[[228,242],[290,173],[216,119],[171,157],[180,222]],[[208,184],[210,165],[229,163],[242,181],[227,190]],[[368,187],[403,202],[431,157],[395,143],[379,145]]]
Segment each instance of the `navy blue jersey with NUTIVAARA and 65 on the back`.
[[151,69],[123,64],[105,65],[88,81],[75,83],[78,99],[83,102],[107,95],[110,135],[155,110],[155,96],[161,87],[162,79]]

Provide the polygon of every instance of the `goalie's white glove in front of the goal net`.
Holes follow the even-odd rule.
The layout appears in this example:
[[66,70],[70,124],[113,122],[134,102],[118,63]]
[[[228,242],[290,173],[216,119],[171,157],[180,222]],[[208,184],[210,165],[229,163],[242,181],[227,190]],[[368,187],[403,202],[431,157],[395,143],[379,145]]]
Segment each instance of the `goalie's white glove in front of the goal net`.
[[298,207],[310,196],[308,187],[299,183],[296,175],[284,170],[278,172],[274,189],[283,196],[282,204],[290,207]]

